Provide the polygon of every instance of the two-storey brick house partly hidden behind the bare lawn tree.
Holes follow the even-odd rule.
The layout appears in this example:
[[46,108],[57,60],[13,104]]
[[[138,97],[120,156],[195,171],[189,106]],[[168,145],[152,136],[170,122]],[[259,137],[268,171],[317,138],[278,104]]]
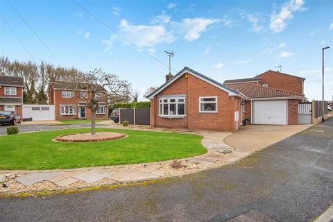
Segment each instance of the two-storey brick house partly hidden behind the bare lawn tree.
[[[78,83],[56,81],[51,78],[49,83],[49,105],[55,105],[56,119],[90,119],[92,113],[87,107],[87,93],[85,86]],[[108,118],[108,104],[100,103],[96,110],[96,119]]]

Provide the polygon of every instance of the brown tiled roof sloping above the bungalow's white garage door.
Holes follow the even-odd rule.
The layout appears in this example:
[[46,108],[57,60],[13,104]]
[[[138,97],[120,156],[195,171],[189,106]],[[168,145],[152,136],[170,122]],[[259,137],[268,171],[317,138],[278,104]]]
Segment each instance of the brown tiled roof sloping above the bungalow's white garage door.
[[293,92],[282,91],[279,89],[272,89],[269,87],[262,87],[260,85],[254,84],[230,84],[229,87],[235,89],[244,95],[246,95],[249,99],[261,99],[261,98],[285,98],[285,97],[296,97],[296,98],[304,98],[302,94],[296,94]]

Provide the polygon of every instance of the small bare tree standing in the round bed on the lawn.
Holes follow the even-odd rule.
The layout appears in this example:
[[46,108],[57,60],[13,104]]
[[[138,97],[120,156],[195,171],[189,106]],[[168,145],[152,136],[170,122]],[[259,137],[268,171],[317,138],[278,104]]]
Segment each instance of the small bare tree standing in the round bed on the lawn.
[[87,107],[92,112],[91,133],[95,134],[96,110],[101,106],[127,101],[130,97],[131,84],[126,80],[120,80],[115,74],[107,74],[102,69],[88,71],[79,79],[72,80],[75,83],[75,91],[87,92],[85,101]]

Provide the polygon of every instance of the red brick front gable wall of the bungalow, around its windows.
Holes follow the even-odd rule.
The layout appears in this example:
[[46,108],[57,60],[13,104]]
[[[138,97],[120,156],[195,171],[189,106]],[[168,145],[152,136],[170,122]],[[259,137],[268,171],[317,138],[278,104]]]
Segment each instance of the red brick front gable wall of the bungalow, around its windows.
[[[171,94],[186,94],[185,118],[167,119],[158,116],[158,97]],[[217,113],[200,113],[199,97],[217,96]],[[188,75],[188,78],[181,76],[166,89],[157,94],[151,100],[151,126],[164,128],[188,128],[189,130],[236,130],[234,111],[241,115],[241,101],[238,97],[228,96],[227,92],[206,83],[195,76]],[[241,125],[239,117],[238,125]]]

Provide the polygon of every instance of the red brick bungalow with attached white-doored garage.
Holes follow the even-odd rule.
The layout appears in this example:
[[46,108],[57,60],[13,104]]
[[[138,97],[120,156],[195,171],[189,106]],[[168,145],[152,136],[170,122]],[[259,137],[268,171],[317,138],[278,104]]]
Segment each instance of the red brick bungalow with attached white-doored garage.
[[253,124],[297,124],[298,101],[305,99],[262,87],[263,77],[257,76],[223,85],[185,67],[166,77],[166,83],[147,96],[152,127],[233,132],[246,119]]

